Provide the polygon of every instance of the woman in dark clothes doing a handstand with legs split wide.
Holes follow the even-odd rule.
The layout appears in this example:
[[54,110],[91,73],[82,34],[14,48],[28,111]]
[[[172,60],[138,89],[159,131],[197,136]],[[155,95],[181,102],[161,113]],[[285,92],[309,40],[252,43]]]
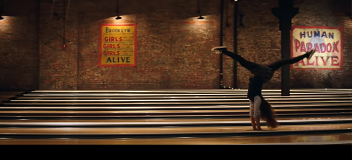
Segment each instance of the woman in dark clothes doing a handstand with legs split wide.
[[227,50],[226,46],[219,46],[212,48],[217,54],[225,54],[232,59],[236,60],[254,74],[254,77],[249,79],[249,88],[247,97],[250,101],[250,120],[254,130],[262,130],[260,127],[260,117],[266,121],[269,128],[277,128],[279,123],[274,118],[274,111],[271,105],[263,98],[261,90],[263,84],[268,82],[276,70],[286,64],[294,64],[304,58],[310,59],[315,51],[311,50],[301,56],[294,57],[289,60],[279,60],[270,65],[259,65],[250,61],[245,60],[238,54]]

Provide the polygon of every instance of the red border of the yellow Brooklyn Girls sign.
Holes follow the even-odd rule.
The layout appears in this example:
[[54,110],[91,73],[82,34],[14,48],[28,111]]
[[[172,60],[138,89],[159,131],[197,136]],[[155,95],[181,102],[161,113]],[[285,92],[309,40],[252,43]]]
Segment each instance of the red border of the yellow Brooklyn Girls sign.
[[[102,65],[102,26],[134,26],[134,64],[132,65]],[[99,25],[99,67],[136,67],[137,59],[137,23],[100,24]]]

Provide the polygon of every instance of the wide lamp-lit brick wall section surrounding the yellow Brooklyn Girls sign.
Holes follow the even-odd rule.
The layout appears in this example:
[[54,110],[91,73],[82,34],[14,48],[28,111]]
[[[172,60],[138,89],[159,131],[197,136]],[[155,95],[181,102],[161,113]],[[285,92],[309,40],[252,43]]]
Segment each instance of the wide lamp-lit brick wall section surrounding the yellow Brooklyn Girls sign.
[[[79,7],[79,89],[212,89],[219,87],[217,1],[115,1]],[[159,7],[158,7],[159,6]],[[99,14],[97,14],[99,13]],[[136,67],[99,67],[99,24],[137,23]]]

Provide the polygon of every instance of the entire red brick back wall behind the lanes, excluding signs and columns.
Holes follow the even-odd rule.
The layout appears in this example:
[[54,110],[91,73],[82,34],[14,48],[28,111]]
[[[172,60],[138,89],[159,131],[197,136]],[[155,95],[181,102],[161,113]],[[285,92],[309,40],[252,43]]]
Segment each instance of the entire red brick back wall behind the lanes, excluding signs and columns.
[[[37,1],[5,2],[5,14],[13,16],[0,21],[1,90],[219,88],[219,55],[210,49],[220,44],[220,1],[201,1],[203,21],[197,20],[197,1],[120,0],[121,20],[115,20],[115,0],[70,1],[65,34],[63,0],[54,5],[40,1],[39,16]],[[292,23],[343,27],[343,70],[292,70],[291,88],[352,87],[352,18],[344,8],[351,5],[331,2],[294,1],[299,14]],[[238,53],[259,64],[281,59],[279,20],[271,13],[278,1],[245,0],[238,5],[244,15]],[[99,25],[119,23],[137,24],[137,65],[99,67]],[[232,1],[225,1],[223,26],[223,45],[233,51]],[[232,86],[233,60],[223,60],[224,85]],[[237,85],[247,88],[251,74],[237,66]],[[281,69],[264,88],[280,86]]]

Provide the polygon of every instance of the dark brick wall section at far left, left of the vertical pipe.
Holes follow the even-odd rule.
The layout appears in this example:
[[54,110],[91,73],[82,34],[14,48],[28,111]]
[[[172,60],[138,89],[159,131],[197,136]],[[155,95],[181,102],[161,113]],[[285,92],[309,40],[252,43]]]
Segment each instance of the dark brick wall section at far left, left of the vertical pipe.
[[38,3],[4,1],[0,20],[0,90],[38,88]]

